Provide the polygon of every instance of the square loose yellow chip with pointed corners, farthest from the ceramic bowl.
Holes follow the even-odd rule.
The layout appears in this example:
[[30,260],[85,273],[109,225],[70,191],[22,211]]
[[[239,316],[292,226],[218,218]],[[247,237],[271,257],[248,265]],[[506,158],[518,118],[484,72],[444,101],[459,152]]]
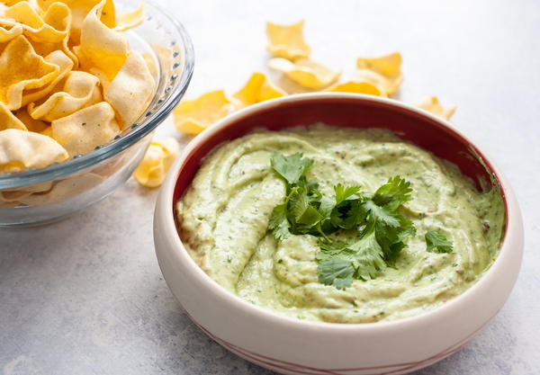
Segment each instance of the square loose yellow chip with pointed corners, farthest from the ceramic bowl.
[[303,21],[292,25],[280,25],[266,22],[268,52],[276,58],[308,58],[310,46],[303,39]]

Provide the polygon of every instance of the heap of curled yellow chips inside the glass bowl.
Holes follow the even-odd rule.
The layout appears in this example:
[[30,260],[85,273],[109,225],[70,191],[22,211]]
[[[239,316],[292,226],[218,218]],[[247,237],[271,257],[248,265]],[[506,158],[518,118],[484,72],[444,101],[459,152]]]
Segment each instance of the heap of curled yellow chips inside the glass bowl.
[[0,174],[86,154],[139,118],[155,78],[120,31],[142,20],[112,0],[0,3]]

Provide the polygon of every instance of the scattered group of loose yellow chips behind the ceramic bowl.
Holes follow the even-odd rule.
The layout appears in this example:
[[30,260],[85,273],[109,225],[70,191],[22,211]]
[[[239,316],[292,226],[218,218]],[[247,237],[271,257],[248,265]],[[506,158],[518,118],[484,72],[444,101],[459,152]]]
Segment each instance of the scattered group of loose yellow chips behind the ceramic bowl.
[[[272,55],[268,67],[305,89],[392,96],[400,88],[403,76],[399,52],[379,58],[358,58],[354,78],[337,83],[340,70],[310,58],[311,49],[303,38],[302,21],[291,25],[267,22],[266,36],[267,50]],[[181,102],[175,109],[175,126],[186,134],[195,135],[232,111],[286,94],[283,88],[273,85],[264,73],[257,72],[244,87],[230,96],[223,90],[217,90]],[[446,119],[455,112],[455,106],[445,109],[437,97],[426,98],[417,105]]]

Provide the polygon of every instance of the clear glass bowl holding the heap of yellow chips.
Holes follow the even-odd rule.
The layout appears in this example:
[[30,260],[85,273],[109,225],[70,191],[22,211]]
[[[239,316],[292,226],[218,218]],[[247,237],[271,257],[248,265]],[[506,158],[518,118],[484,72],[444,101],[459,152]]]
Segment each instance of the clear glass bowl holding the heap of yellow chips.
[[[119,11],[130,4],[117,1]],[[138,121],[112,142],[64,163],[18,174],[0,174],[0,227],[29,226],[66,218],[102,200],[130,177],[152,132],[173,111],[193,75],[193,44],[184,27],[145,2],[145,20],[124,33],[131,49],[154,61],[157,89]]]

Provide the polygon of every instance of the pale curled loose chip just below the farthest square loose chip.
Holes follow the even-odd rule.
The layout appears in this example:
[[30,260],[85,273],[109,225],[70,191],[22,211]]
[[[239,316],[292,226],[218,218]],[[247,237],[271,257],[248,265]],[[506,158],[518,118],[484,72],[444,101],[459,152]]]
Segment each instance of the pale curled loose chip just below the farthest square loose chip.
[[291,62],[285,58],[272,58],[268,67],[278,70],[294,82],[306,88],[320,89],[332,84],[341,74],[324,64],[311,59],[301,59]]

